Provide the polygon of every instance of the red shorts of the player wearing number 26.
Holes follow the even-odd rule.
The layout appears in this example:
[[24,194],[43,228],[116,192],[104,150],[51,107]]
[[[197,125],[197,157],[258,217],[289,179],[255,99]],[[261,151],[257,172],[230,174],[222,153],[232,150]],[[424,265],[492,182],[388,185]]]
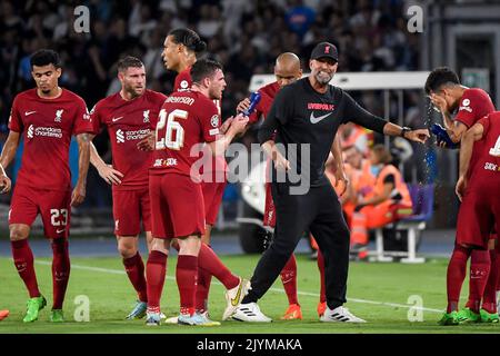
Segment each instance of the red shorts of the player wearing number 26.
[[179,238],[204,234],[201,185],[191,177],[166,174],[149,176],[152,235]]

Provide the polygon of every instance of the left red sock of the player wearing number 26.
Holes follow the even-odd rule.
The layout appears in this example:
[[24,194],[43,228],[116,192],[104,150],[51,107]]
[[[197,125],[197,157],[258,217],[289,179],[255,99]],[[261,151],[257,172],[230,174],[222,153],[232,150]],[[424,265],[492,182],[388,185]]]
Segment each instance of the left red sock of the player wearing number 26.
[[148,310],[153,313],[160,313],[160,298],[167,271],[167,257],[163,253],[152,250],[146,264]]

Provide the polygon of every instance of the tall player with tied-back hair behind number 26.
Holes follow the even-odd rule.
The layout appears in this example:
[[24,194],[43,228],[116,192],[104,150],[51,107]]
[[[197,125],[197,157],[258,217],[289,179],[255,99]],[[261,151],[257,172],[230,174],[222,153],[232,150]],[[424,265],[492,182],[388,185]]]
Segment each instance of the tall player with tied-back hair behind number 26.
[[[197,55],[204,51],[207,43],[203,42],[197,32],[190,29],[171,30],[163,43],[162,58],[168,70],[178,72],[173,86],[173,92],[183,92],[191,88],[191,67],[197,61]],[[220,115],[220,98],[214,99]],[[229,122],[228,122],[229,123]],[[211,156],[211,155],[210,155]],[[216,224],[217,214],[222,202],[222,195],[226,187],[227,164],[223,156],[210,157],[208,164],[202,165],[201,191],[206,209],[206,233],[201,237],[201,249],[199,256],[199,274],[197,285],[197,313],[208,319],[208,297],[210,290],[211,276],[216,276],[228,289],[226,299],[228,308],[222,316],[224,320],[231,308],[231,300],[236,300],[240,287],[234,286],[236,277],[222,264],[210,247],[210,233]],[[178,248],[177,244],[173,247]],[[232,277],[231,277],[232,276]],[[248,283],[239,279],[240,283]],[[238,298],[237,298],[238,299]],[[176,318],[167,319],[167,323],[177,323]]]

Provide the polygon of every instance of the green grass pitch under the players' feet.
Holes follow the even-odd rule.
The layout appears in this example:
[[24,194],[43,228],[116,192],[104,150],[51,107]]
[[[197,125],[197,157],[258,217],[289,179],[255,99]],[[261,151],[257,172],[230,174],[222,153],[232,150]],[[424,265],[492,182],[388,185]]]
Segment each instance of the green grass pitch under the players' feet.
[[[222,260],[233,273],[249,277],[258,256],[223,256]],[[134,293],[120,258],[72,258],[70,284],[64,305],[67,323],[53,325],[48,322],[51,305],[50,259],[36,263],[40,290],[48,299],[48,307],[40,312],[38,322],[21,322],[28,299],[24,286],[8,258],[0,258],[0,309],[10,309],[10,316],[0,322],[2,333],[498,333],[500,325],[438,326],[446,306],[447,260],[436,259],[423,265],[363,264],[350,265],[347,307],[368,320],[363,325],[319,323],[316,314],[319,294],[318,269],[307,256],[298,257],[299,300],[302,322],[281,322],[279,317],[287,307],[287,298],[278,280],[260,300],[261,310],[274,319],[271,324],[224,322],[220,327],[200,328],[177,325],[146,327],[143,320],[124,320],[134,303]],[[174,279],[176,258],[169,258],[168,279],[162,295],[162,310],[168,316],[178,310],[178,290]],[[90,267],[90,268],[89,268]],[[93,269],[92,269],[93,268]],[[96,269],[97,268],[97,269]],[[102,269],[99,269],[102,268]],[[467,283],[463,286],[468,290]],[[73,314],[78,307],[76,297],[84,295],[90,300],[90,322],[77,323]],[[423,322],[409,322],[408,298],[420,296]],[[463,300],[463,296],[462,296]],[[220,319],[224,308],[223,287],[212,283],[210,313]]]

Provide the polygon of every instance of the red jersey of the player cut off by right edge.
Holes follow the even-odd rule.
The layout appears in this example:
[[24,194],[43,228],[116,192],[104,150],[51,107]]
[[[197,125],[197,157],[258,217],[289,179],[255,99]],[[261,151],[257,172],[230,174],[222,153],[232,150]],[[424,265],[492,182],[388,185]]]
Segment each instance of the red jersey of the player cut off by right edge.
[[494,189],[491,194],[498,196],[500,194],[500,111],[483,117],[478,123],[483,127],[480,141],[483,141],[484,150],[478,157],[476,168],[471,172],[470,187],[487,185]]

